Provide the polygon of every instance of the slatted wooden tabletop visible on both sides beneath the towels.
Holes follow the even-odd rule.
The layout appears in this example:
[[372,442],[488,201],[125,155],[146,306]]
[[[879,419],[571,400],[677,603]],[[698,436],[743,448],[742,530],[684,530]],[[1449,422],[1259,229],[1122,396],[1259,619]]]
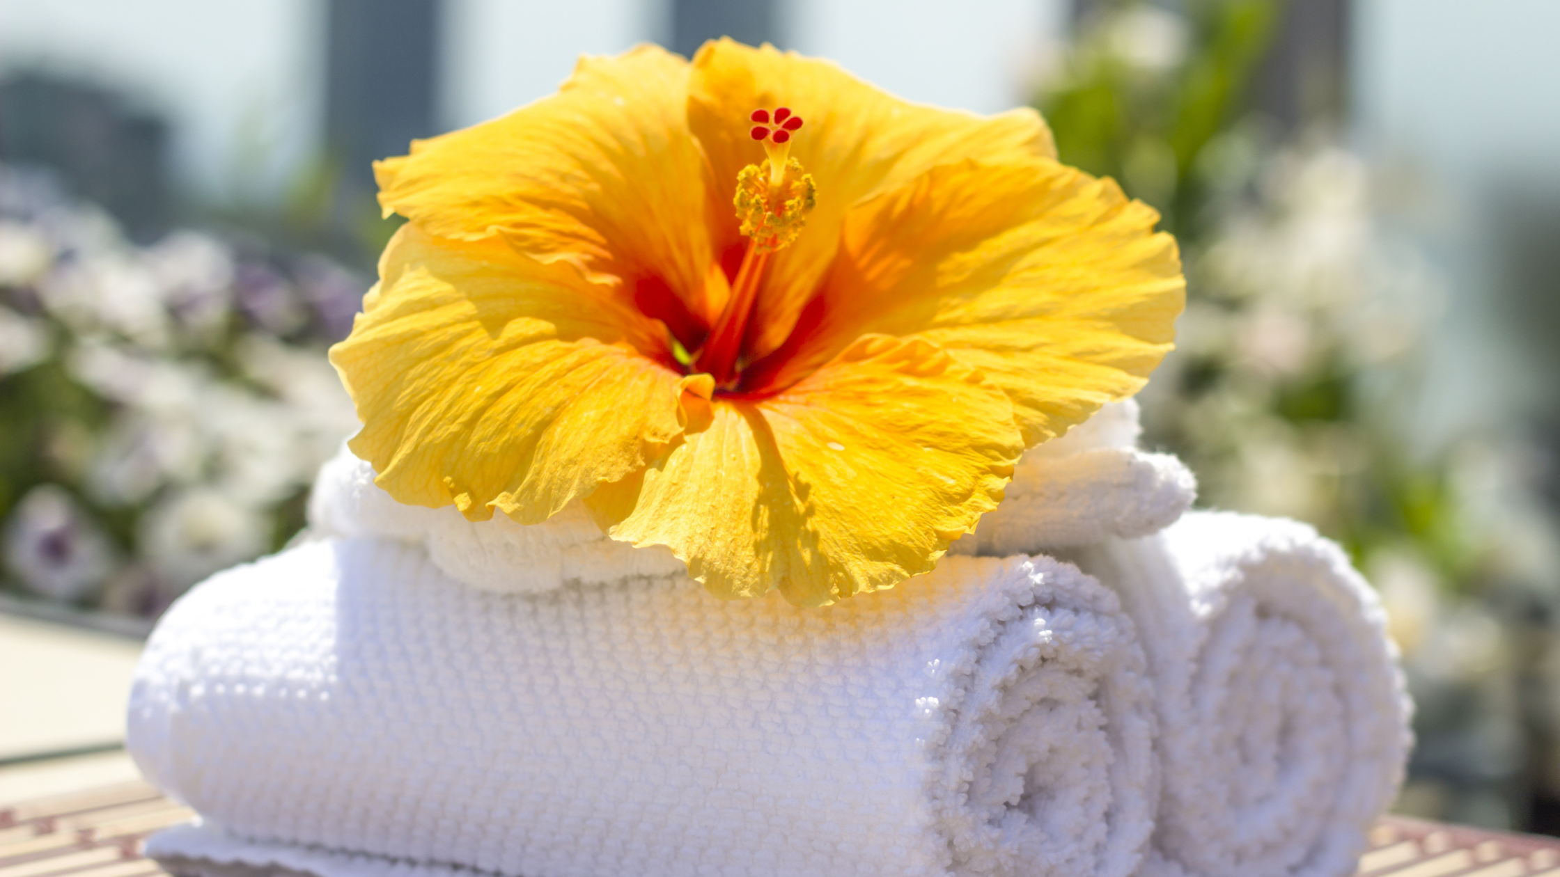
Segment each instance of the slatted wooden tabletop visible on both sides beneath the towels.
[[[0,877],[167,877],[142,841],[190,816],[145,783],[0,802]],[[1560,877],[1560,838],[1388,816],[1370,840],[1359,877]]]

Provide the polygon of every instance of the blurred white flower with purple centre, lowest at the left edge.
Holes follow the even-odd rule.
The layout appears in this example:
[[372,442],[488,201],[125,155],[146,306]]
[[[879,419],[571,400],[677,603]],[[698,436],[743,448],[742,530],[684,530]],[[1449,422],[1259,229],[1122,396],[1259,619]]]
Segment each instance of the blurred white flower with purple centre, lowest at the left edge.
[[6,570],[47,598],[75,601],[114,570],[114,549],[62,488],[34,487],[5,527]]

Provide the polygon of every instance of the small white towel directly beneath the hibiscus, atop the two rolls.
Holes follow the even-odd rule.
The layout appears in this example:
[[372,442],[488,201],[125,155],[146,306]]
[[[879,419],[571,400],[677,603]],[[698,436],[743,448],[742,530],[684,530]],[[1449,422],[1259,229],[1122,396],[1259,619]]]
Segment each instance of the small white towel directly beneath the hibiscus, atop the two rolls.
[[[1128,399],[1030,449],[1014,467],[1006,499],[950,554],[1041,554],[1168,526],[1197,498],[1197,481],[1181,460],[1137,451],[1139,432],[1137,403]],[[686,574],[666,548],[636,549],[608,538],[580,502],[535,526],[502,513],[468,521],[454,507],[401,506],[374,485],[373,467],[346,448],[320,470],[309,523],[324,537],[421,543],[449,577],[501,593]]]

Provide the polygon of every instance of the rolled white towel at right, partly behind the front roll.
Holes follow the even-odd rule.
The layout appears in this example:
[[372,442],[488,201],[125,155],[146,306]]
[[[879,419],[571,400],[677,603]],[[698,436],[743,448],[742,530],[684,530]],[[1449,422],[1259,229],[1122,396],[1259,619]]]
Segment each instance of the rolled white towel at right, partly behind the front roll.
[[1075,554],[1137,624],[1164,793],[1142,877],[1343,877],[1412,705],[1374,591],[1293,521],[1195,512]]

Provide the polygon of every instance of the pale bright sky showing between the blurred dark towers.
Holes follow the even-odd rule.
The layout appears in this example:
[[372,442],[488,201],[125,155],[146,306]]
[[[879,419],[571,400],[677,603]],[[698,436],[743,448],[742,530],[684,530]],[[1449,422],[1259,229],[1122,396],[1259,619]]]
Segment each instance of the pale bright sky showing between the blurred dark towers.
[[[665,37],[671,0],[445,0],[440,125],[551,92],[582,53]],[[782,42],[902,97],[1022,103],[1070,0],[789,0]],[[1356,140],[1437,173],[1560,176],[1554,0],[1357,0]],[[0,70],[108,83],[175,123],[176,176],[212,192],[245,153],[298,161],[320,136],[323,0],[0,0]]]

